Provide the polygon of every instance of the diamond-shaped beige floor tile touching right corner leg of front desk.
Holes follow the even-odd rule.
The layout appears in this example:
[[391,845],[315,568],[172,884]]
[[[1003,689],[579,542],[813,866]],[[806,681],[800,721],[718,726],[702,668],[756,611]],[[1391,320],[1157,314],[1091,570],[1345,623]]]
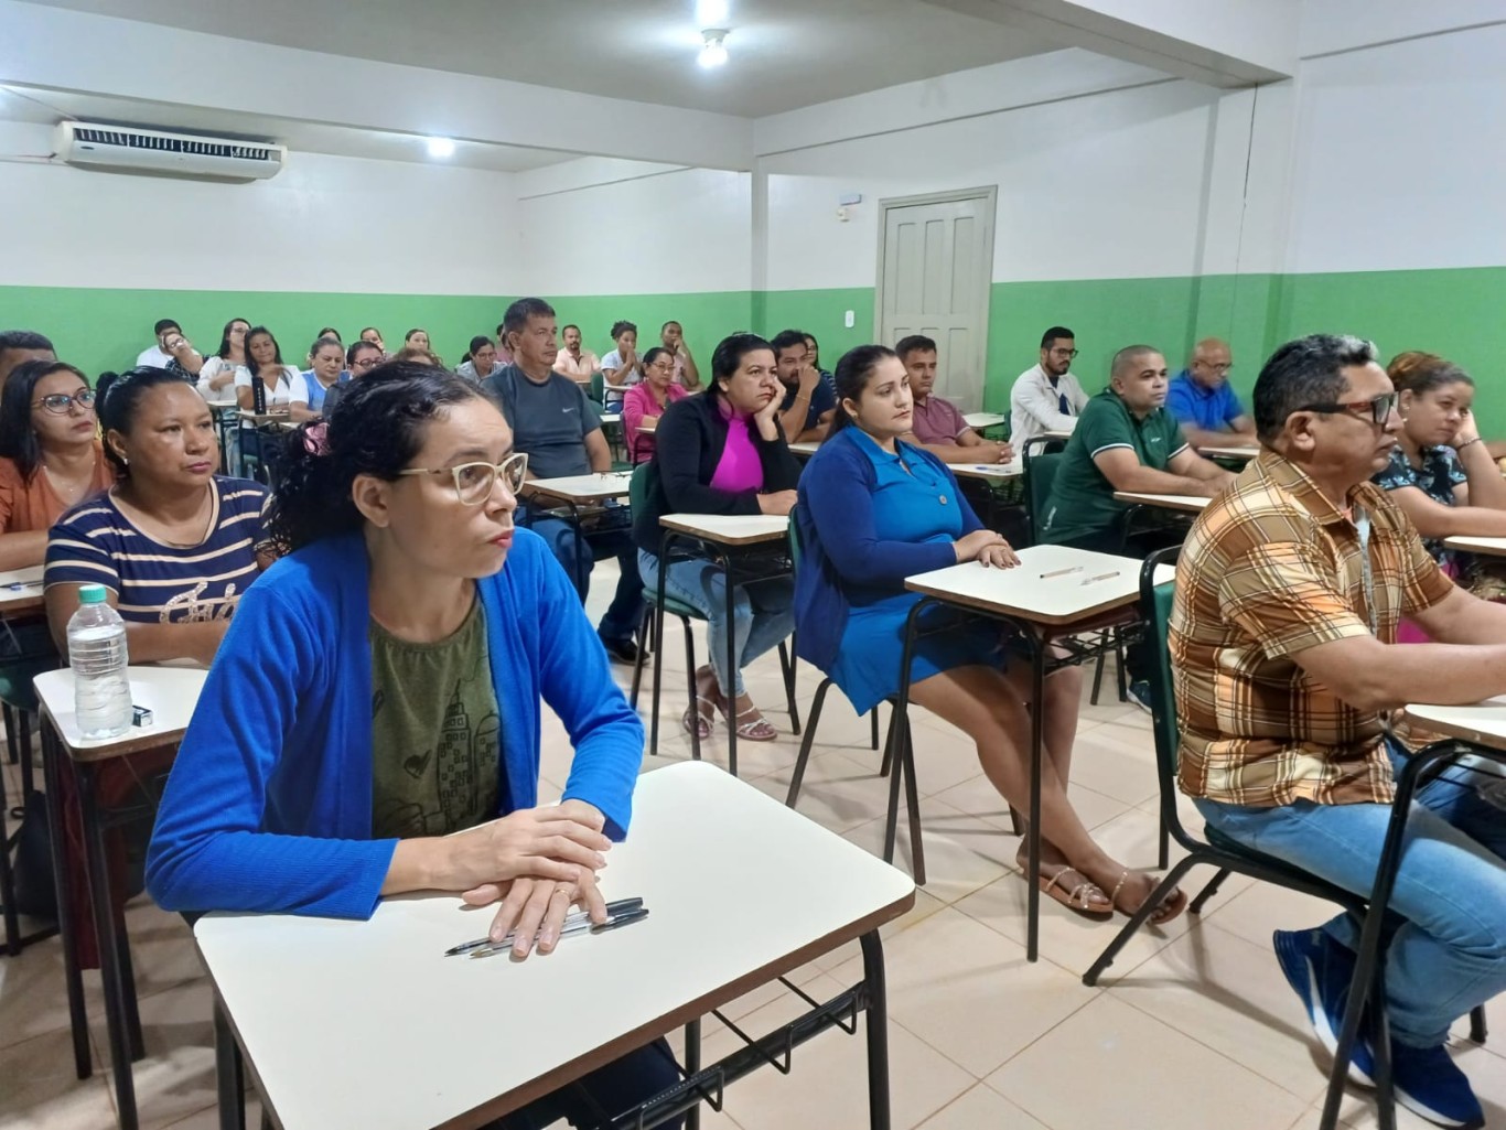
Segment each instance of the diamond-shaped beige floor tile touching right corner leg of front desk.
[[890,1017],[979,1079],[1099,993],[950,907],[890,940],[886,966]]

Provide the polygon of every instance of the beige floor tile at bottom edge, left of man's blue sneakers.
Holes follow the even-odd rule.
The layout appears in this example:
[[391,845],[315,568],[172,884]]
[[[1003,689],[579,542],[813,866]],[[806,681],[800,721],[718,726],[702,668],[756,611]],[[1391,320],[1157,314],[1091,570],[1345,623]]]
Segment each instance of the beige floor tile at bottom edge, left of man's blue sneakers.
[[1306,1103],[1099,996],[988,1077],[1051,1130],[1286,1130]]

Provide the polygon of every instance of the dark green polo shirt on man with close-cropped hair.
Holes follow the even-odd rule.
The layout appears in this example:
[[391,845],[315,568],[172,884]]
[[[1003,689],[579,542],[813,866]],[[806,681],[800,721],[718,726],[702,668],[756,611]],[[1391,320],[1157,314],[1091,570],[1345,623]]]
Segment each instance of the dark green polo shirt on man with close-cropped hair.
[[1166,470],[1172,457],[1187,447],[1187,438],[1166,408],[1137,420],[1111,389],[1093,396],[1057,464],[1041,521],[1042,541],[1059,545],[1086,538],[1111,526],[1123,512],[1123,503],[1114,500],[1114,485],[1093,463],[1093,457],[1111,447],[1128,447],[1142,466]]

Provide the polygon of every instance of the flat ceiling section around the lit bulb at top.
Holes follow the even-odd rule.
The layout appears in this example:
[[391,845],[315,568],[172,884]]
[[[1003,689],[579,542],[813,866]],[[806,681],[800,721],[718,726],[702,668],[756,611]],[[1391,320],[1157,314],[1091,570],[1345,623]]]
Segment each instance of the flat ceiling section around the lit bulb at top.
[[730,62],[702,71],[694,0],[29,2],[741,118],[1065,45],[923,0],[729,0]]

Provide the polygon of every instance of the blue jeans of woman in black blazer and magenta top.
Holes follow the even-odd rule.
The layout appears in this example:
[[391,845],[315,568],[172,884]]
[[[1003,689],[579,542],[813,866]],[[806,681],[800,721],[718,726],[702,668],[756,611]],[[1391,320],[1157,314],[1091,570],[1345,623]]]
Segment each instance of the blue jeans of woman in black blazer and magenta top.
[[[660,560],[639,550],[639,573],[643,585],[658,589]],[[747,582],[732,589],[732,639],[738,669],[727,666],[727,574],[720,565],[700,557],[672,560],[664,574],[664,592],[678,601],[700,609],[706,616],[706,649],[717,687],[723,695],[742,693],[742,667],[795,630],[795,582],[792,577],[770,577]]]

